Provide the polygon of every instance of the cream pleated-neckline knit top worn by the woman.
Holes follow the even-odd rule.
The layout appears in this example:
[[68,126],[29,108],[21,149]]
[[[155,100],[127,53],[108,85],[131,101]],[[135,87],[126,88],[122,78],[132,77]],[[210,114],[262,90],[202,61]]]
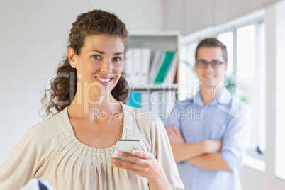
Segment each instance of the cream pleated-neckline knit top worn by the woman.
[[[184,189],[162,122],[151,112],[121,105],[121,139],[142,140],[142,149],[155,155],[172,189]],[[148,189],[147,179],[112,167],[114,147],[96,149],[77,140],[65,108],[23,136],[0,167],[0,190],[18,190],[33,178],[47,179],[55,190]]]

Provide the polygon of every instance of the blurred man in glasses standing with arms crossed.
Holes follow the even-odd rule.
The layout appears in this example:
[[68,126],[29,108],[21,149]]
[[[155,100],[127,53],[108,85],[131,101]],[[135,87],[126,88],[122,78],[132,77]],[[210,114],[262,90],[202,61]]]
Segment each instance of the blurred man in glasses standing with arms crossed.
[[[174,106],[165,127],[180,177],[185,189],[241,189],[238,169],[250,144],[250,109],[224,86],[228,56],[223,43],[202,40],[195,59],[200,91]],[[187,111],[199,117],[189,119]]]

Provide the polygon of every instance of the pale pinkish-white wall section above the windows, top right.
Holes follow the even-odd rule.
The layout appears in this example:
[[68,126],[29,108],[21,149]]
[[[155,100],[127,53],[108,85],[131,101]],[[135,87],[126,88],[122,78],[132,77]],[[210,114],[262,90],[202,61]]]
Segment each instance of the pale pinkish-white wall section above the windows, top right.
[[216,26],[279,0],[165,0],[165,30],[187,35]]

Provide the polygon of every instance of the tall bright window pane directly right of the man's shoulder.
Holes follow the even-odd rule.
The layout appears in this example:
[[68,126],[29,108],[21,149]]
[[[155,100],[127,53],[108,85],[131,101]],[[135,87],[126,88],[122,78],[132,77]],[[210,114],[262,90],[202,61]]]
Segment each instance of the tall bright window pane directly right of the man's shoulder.
[[[240,72],[240,97],[252,111],[252,155],[265,151],[265,59],[264,23],[237,30],[237,71]],[[257,153],[257,154],[256,154]]]

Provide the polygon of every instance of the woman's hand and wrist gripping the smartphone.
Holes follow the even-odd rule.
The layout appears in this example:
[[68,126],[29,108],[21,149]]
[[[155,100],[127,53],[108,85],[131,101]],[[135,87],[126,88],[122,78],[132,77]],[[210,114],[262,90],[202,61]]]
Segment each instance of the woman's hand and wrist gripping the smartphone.
[[152,153],[143,150],[133,150],[131,154],[118,152],[118,156],[128,159],[131,162],[113,157],[111,159],[113,167],[126,169],[141,177],[145,177],[150,185],[150,189],[171,189],[164,169]]

